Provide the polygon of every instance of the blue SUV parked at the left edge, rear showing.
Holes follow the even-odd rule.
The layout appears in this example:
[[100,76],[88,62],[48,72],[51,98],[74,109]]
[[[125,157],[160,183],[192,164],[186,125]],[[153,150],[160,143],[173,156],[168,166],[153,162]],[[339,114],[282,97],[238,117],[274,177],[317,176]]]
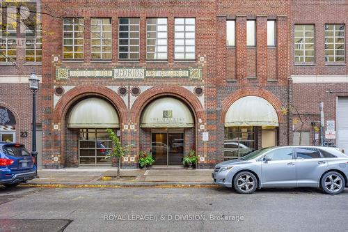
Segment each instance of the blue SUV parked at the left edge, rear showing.
[[34,158],[24,145],[0,141],[0,185],[15,187],[35,176]]

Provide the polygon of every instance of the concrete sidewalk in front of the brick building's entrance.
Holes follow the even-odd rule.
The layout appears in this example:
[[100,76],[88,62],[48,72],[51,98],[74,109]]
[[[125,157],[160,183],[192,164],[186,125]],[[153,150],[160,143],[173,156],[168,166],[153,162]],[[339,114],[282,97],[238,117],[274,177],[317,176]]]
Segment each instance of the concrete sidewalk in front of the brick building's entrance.
[[39,178],[29,180],[31,185],[213,185],[212,170],[207,169],[45,169]]

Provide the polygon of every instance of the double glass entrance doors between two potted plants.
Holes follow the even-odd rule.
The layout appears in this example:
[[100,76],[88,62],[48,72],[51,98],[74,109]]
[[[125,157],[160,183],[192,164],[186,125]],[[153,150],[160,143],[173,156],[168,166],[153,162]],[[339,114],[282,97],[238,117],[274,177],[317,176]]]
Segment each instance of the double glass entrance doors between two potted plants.
[[151,152],[157,165],[180,165],[184,157],[184,132],[152,132]]

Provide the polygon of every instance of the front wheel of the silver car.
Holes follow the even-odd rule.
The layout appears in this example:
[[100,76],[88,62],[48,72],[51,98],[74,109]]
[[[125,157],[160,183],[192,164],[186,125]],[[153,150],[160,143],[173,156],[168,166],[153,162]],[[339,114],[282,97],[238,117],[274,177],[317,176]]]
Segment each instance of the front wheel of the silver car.
[[252,194],[258,187],[258,179],[249,171],[237,173],[233,179],[233,187],[240,194]]

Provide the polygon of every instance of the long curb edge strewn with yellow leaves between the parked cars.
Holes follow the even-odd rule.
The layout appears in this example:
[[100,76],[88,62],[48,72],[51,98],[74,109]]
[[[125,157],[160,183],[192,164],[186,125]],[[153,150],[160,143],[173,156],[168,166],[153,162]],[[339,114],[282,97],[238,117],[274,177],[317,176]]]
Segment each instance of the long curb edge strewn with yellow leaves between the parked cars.
[[212,182],[137,182],[137,183],[22,183],[28,187],[214,187]]

